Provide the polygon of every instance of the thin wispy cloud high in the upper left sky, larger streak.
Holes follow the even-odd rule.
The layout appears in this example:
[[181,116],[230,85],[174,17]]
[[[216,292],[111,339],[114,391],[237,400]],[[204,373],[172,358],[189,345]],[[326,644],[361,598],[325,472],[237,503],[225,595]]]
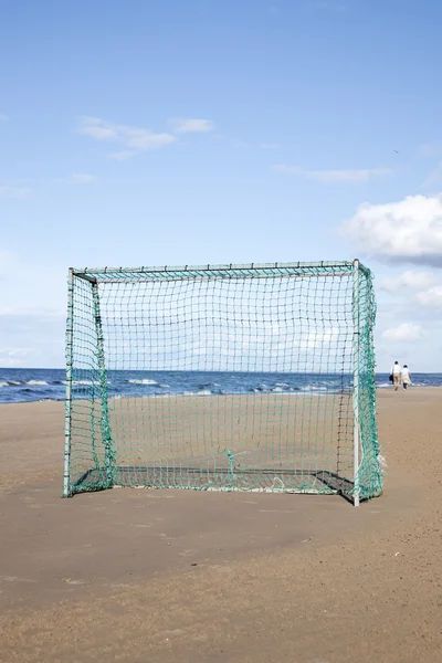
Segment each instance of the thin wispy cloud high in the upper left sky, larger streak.
[[78,133],[90,136],[95,140],[124,145],[124,151],[110,155],[114,159],[128,158],[140,151],[160,149],[177,140],[172,134],[155,134],[150,129],[117,125],[99,117],[83,118],[78,127]]

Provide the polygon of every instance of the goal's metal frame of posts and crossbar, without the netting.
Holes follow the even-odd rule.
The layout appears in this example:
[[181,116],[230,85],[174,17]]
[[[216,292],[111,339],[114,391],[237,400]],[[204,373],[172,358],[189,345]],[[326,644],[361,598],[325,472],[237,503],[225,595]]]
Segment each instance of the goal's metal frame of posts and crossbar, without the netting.
[[[359,412],[359,367],[360,367],[360,332],[359,332],[359,284],[360,277],[371,280],[371,272],[360,263],[358,259],[341,262],[297,262],[297,263],[249,263],[249,264],[219,264],[200,266],[164,266],[164,267],[70,267],[67,277],[67,318],[66,318],[66,396],[65,396],[65,425],[64,425],[64,473],[63,473],[63,497],[71,497],[75,491],[71,486],[71,442],[72,442],[72,407],[73,407],[73,347],[74,347],[74,283],[76,278],[84,280],[91,284],[92,298],[94,303],[95,330],[97,337],[97,361],[99,368],[99,391],[102,408],[102,440],[104,445],[104,460],[107,476],[105,487],[116,487],[113,477],[114,450],[112,448],[112,436],[109,424],[106,417],[107,412],[107,372],[104,355],[104,338],[102,327],[102,316],[99,308],[99,283],[120,283],[126,275],[133,275],[137,282],[141,281],[178,281],[182,278],[269,278],[269,276],[287,277],[308,277],[308,276],[352,276],[352,445],[354,445],[354,467],[351,499],[355,506],[358,506],[361,499],[360,493],[360,466],[364,455],[364,444],[361,444],[360,412]],[[128,280],[129,281],[129,280]],[[371,283],[371,282],[370,282]],[[372,307],[371,315],[375,319],[376,305],[373,295],[370,299]],[[368,329],[368,338],[372,348],[372,325]],[[372,372],[372,382],[375,383],[375,372]],[[375,408],[376,425],[376,396],[372,407]],[[375,431],[377,441],[377,427]],[[381,473],[380,473],[381,474]],[[381,484],[380,484],[381,485]],[[209,488],[215,490],[215,488]],[[227,490],[227,488],[220,488]],[[235,490],[235,488],[232,488]],[[236,488],[238,490],[238,488]],[[264,488],[265,490],[265,488]],[[308,491],[290,491],[308,492]],[[313,492],[313,491],[312,491]],[[380,487],[378,494],[382,492]],[[371,495],[376,496],[376,495]],[[348,497],[348,495],[347,495]]]

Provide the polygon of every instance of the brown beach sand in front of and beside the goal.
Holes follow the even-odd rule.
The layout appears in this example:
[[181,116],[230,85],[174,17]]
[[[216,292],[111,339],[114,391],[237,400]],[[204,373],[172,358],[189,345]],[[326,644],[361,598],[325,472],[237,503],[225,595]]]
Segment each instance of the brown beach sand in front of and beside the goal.
[[60,403],[0,407],[0,661],[442,661],[442,391],[379,394],[385,495],[61,499]]

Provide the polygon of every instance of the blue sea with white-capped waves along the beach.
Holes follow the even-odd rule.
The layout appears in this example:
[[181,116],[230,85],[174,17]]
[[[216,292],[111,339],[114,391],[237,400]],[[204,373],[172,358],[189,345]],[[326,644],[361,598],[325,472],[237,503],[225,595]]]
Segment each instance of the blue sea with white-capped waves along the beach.
[[[84,373],[81,376],[84,378]],[[241,393],[338,393],[351,388],[351,376],[337,373],[217,372],[217,371],[108,371],[108,396],[162,397]],[[73,397],[85,398],[96,376],[74,380]],[[412,373],[413,387],[442,387],[442,373]],[[390,387],[388,373],[377,373],[380,389]],[[0,368],[0,403],[62,401],[64,369]]]

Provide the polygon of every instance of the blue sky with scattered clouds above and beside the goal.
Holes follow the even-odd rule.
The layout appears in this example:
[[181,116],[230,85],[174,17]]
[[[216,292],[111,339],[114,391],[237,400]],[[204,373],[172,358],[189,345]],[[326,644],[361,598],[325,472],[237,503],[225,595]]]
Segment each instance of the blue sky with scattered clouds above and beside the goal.
[[0,366],[62,366],[67,266],[340,260],[378,368],[442,370],[442,4],[3,1]]

